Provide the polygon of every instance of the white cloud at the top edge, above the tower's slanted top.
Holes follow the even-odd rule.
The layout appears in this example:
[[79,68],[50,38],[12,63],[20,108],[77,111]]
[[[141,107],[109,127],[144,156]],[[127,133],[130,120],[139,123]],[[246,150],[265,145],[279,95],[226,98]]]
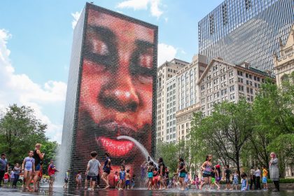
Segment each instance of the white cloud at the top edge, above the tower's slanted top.
[[160,18],[163,11],[160,10],[160,0],[127,0],[118,3],[117,8],[133,8],[134,10],[147,10],[150,6],[151,15]]

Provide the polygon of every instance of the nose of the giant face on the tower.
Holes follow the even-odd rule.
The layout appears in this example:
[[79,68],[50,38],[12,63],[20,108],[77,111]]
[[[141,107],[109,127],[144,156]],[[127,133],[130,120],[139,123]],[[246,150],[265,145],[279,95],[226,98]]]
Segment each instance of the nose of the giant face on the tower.
[[139,96],[128,67],[113,74],[113,79],[102,87],[98,99],[106,108],[120,112],[137,111]]

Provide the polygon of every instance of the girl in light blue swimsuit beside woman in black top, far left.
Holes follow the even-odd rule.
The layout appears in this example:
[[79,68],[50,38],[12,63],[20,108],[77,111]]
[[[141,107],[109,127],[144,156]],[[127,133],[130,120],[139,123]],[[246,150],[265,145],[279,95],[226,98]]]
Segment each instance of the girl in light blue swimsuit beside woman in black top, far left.
[[29,151],[29,156],[22,162],[22,168],[24,169],[24,186],[26,189],[29,189],[31,174],[35,172],[35,160],[33,155],[34,151]]

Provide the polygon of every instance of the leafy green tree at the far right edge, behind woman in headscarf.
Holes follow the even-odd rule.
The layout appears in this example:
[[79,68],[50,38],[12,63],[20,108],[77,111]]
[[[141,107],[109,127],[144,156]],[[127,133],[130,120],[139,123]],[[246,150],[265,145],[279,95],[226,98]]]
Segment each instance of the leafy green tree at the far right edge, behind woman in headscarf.
[[269,167],[269,153],[277,153],[281,176],[284,175],[285,166],[293,164],[293,156],[286,154],[289,146],[293,149],[290,145],[294,134],[293,81],[294,73],[283,80],[281,87],[267,79],[253,102],[255,127],[251,137],[252,156],[260,165]]

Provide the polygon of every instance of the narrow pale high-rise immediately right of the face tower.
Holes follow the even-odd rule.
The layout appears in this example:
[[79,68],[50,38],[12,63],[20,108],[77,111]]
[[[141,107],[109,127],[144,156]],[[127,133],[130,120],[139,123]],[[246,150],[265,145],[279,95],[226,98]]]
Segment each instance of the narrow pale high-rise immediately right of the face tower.
[[157,84],[157,126],[156,142],[174,141],[175,137],[167,137],[167,134],[176,132],[176,73],[188,65],[180,59],[172,59],[158,67]]

